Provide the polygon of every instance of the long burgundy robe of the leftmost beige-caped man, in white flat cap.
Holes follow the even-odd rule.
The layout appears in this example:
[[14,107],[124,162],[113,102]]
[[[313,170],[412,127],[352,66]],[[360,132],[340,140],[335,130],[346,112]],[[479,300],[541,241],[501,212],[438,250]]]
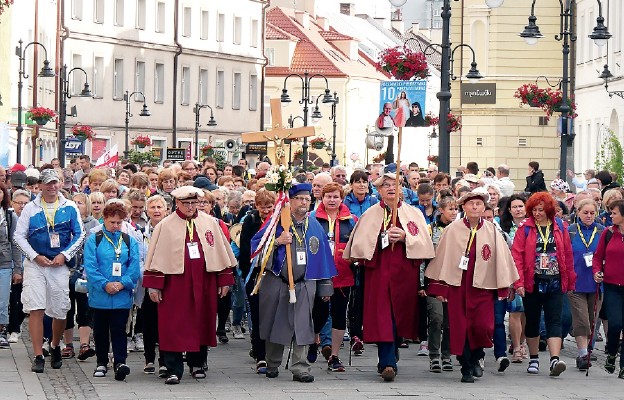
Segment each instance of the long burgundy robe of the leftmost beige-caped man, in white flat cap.
[[[194,231],[197,238],[197,231]],[[191,240],[186,233],[185,243]],[[199,254],[203,254],[201,242]],[[191,260],[184,251],[184,273],[165,275],[145,271],[143,286],[162,290],[158,304],[158,338],[162,351],[198,352],[217,345],[217,288],[234,284],[232,269],[207,272],[203,258]]]

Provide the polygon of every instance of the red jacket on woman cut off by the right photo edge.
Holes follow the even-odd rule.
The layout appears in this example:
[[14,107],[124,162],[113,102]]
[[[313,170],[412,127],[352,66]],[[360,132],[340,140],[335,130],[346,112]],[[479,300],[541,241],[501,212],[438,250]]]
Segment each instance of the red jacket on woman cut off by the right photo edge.
[[[609,239],[609,244],[605,246],[605,236],[607,229],[612,230],[613,236]],[[604,273],[604,283],[624,286],[624,236],[617,226],[605,229],[600,235],[598,247],[592,260],[592,270],[594,274],[602,271]]]

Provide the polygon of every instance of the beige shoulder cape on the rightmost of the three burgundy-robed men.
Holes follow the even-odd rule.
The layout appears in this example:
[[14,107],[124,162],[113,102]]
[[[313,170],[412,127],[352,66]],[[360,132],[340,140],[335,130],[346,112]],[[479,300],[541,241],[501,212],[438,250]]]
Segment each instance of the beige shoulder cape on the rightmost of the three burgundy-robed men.
[[[425,276],[451,286],[459,286],[463,272],[459,268],[459,262],[466,251],[469,238],[470,228],[463,219],[458,219],[447,226],[442,232],[436,257],[427,266]],[[473,287],[504,289],[520,278],[509,247],[493,223],[483,221],[483,225],[477,231],[476,241]]]

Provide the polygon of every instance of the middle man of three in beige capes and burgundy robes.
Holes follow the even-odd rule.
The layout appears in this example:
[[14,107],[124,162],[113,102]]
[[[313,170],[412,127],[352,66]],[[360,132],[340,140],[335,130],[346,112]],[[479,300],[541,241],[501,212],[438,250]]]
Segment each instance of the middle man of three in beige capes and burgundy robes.
[[391,172],[377,178],[381,201],[360,217],[343,253],[364,265],[363,336],[365,342],[377,343],[377,369],[384,381],[396,376],[398,338],[418,337],[420,264],[434,256],[419,209],[399,201],[392,224],[391,207],[402,194],[396,182]]

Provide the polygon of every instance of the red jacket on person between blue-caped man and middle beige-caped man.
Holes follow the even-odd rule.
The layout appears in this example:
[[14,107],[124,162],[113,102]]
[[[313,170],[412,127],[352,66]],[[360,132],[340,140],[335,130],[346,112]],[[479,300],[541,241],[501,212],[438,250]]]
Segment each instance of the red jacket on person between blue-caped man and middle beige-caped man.
[[[325,232],[329,232],[329,220],[327,212],[325,211],[325,205],[323,203],[321,203],[318,208],[310,214],[310,216],[317,219]],[[347,247],[347,242],[349,241],[351,231],[353,230],[356,222],[357,217],[351,214],[349,207],[347,207],[344,203],[341,203],[340,208],[338,209],[338,217],[334,225],[334,243],[336,246],[334,249],[334,262],[336,263],[338,275],[333,278],[333,284],[336,289],[341,287],[350,287],[355,283],[353,271],[351,270],[351,262],[342,258],[342,253],[344,252],[345,247]]]

